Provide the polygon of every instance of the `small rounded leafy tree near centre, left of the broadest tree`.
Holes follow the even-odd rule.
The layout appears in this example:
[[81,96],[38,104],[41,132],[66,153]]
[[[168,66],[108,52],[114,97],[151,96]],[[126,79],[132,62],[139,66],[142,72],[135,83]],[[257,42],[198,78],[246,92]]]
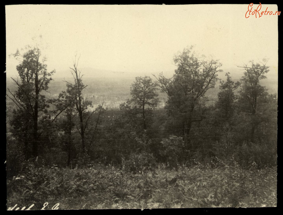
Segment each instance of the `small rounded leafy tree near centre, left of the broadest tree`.
[[137,128],[142,127],[145,132],[153,116],[153,109],[158,104],[156,84],[149,76],[136,77],[136,81],[131,85],[130,94],[132,98],[122,103],[120,110],[130,123]]

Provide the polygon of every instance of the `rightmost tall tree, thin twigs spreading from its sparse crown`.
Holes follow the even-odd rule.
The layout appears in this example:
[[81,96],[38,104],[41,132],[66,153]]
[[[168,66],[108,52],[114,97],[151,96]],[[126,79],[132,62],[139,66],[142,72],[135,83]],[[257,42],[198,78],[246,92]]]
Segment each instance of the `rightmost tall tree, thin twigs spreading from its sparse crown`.
[[266,59],[259,63],[254,63],[251,60],[244,66],[238,66],[245,71],[244,76],[241,78],[242,88],[240,90],[239,104],[241,110],[251,116],[251,142],[254,141],[256,126],[260,123],[257,117],[258,98],[267,96],[266,88],[259,84],[260,80],[266,78],[264,75],[269,71],[266,63]]

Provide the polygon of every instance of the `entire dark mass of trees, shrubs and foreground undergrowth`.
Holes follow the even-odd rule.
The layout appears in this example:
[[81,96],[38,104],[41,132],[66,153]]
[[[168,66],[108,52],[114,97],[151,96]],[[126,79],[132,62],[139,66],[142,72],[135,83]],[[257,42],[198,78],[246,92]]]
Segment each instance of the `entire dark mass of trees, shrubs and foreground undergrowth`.
[[278,100],[261,84],[268,60],[247,59],[235,81],[220,61],[187,47],[173,59],[174,76],[137,76],[121,92],[128,98],[109,108],[92,102],[95,90],[86,95],[93,86],[77,56],[56,97],[48,95],[55,71],[38,47],[12,56],[8,207],[276,206]]

